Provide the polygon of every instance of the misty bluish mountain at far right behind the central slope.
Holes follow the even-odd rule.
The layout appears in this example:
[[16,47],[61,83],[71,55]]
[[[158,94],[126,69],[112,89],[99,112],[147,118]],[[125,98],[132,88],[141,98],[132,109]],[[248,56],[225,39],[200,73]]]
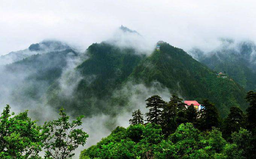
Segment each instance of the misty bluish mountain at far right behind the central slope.
[[256,90],[256,45],[251,41],[235,43],[224,39],[210,52],[194,48],[189,53],[215,72],[226,72],[245,90]]

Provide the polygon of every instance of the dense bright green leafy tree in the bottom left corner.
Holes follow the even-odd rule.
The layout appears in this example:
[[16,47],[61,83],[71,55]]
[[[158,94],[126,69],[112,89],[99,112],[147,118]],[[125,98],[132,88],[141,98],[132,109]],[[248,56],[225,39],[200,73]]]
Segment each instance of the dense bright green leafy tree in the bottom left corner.
[[1,159],[39,159],[42,150],[42,135],[36,121],[27,112],[10,114],[7,105],[0,117],[0,158]]

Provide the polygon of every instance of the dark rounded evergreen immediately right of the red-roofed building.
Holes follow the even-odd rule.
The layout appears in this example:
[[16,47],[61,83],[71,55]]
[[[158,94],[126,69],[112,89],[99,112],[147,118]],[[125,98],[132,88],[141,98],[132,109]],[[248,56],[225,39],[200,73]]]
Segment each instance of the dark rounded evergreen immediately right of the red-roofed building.
[[203,101],[203,108],[200,110],[199,115],[199,127],[201,130],[210,130],[213,126],[219,127],[221,124],[217,108],[208,99]]

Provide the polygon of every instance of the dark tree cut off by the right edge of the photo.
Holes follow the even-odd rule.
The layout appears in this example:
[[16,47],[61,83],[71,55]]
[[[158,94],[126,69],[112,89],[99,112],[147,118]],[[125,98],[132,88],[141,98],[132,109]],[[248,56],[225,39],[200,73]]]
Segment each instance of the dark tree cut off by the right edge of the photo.
[[246,110],[247,128],[253,132],[253,134],[256,134],[256,92],[248,92],[245,99],[249,102],[249,107]]

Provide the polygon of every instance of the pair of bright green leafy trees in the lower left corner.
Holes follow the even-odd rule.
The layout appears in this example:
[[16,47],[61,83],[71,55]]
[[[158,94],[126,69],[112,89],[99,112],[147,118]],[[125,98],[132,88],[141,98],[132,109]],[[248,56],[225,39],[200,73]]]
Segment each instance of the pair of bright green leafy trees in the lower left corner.
[[[1,159],[68,159],[74,150],[84,145],[88,134],[79,126],[83,116],[69,121],[70,117],[59,110],[58,120],[37,126],[28,117],[28,111],[15,115],[7,105],[0,117],[0,158]],[[44,151],[44,157],[39,153]]]

